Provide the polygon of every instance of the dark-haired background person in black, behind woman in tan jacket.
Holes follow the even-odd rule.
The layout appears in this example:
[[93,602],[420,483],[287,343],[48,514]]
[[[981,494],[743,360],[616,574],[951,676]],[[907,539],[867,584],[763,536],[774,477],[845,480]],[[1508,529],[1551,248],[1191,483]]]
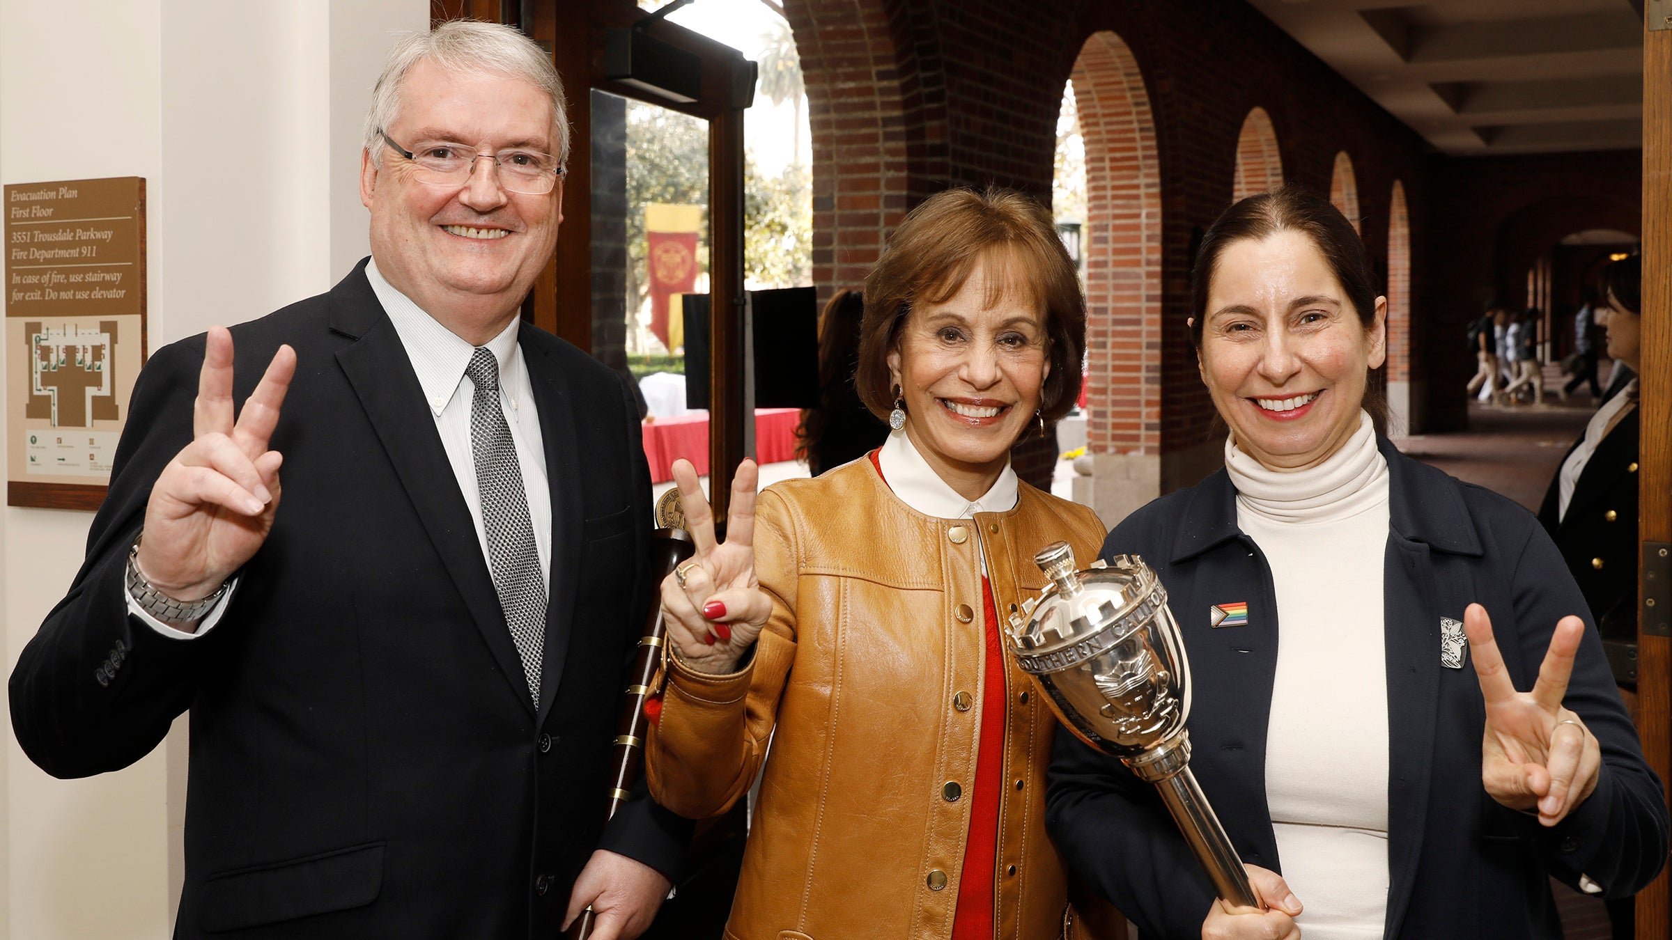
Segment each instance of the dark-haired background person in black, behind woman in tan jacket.
[[858,460],[888,438],[888,425],[871,413],[853,385],[859,368],[864,294],[841,289],[819,316],[819,405],[801,411],[796,457],[813,477]]

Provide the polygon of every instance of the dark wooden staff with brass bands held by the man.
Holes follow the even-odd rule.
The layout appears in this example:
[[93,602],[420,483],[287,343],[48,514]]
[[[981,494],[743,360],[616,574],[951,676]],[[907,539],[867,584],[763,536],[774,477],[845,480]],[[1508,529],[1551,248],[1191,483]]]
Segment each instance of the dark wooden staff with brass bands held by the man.
[[[667,646],[667,629],[662,624],[662,605],[657,602],[662,580],[696,550],[686,532],[686,510],[679,502],[679,487],[669,488],[655,502],[655,532],[650,534],[650,607],[645,614],[644,636],[634,651],[627,671],[627,687],[622,696],[620,721],[615,726],[615,753],[610,774],[610,800],[605,821],[632,796],[632,786],[644,768],[644,738],[649,719],[644,702],[655,694],[657,672],[662,669],[662,652]],[[568,927],[568,940],[587,940],[592,935],[594,913],[589,907]]]

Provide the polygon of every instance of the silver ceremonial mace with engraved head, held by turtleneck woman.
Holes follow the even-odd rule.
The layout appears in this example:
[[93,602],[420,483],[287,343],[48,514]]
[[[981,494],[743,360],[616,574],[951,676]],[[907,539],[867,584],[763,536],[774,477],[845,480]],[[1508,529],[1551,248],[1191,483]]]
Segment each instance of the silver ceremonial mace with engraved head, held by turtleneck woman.
[[1221,898],[1264,908],[1190,773],[1190,664],[1167,589],[1137,555],[1075,570],[1053,542],[1033,560],[1052,584],[1010,614],[1017,666],[1075,738],[1155,784]]

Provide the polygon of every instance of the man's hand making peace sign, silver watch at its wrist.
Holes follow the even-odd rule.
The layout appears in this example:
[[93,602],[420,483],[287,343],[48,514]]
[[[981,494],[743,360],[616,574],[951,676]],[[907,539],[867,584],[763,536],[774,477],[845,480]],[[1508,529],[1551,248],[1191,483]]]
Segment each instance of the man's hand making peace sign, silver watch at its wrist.
[[145,503],[140,574],[176,600],[207,597],[261,549],[279,507],[279,452],[268,450],[296,373],[279,346],[232,420],[232,333],[212,326],[192,406],[192,442],[162,468]]

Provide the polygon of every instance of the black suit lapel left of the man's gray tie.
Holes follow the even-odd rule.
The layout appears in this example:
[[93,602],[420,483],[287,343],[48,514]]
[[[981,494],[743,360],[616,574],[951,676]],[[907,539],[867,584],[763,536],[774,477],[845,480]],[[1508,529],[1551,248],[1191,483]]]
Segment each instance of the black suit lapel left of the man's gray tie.
[[364,276],[349,278],[344,284],[346,288],[339,291],[359,288],[364,296],[358,296],[359,291],[331,296],[331,330],[356,340],[338,351],[336,361],[354,386],[354,395],[359,396],[366,418],[376,428],[378,440],[413,502],[413,510],[430,534],[430,542],[435,544],[448,574],[453,575],[453,584],[458,585],[465,607],[470,609],[470,617],[482,631],[482,639],[493,652],[510,691],[532,711],[528,681],[523,677],[517,646],[505,626],[488,562],[482,557],[477,525],[470,519],[463,493],[458,492],[458,480],[435,432],[435,418],[425,408],[423,388],[418,385],[406,348],[401,346],[395,324],[383,313]]

